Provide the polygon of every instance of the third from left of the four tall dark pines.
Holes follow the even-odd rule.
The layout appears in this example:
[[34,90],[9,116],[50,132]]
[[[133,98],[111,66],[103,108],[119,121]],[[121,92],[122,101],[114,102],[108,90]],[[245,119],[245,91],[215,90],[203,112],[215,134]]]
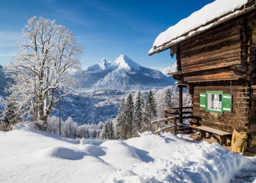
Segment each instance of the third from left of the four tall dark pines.
[[143,100],[143,97],[141,95],[141,91],[137,93],[135,105],[134,105],[134,133],[141,132],[141,128],[143,125],[143,107],[145,105],[145,102]]

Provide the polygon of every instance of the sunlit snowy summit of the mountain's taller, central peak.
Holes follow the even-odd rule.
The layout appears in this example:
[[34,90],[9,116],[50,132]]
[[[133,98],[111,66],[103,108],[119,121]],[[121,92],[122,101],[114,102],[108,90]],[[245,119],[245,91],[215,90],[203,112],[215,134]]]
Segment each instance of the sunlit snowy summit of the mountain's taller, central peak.
[[121,54],[111,65],[116,66],[118,70],[140,70],[140,65],[125,54]]

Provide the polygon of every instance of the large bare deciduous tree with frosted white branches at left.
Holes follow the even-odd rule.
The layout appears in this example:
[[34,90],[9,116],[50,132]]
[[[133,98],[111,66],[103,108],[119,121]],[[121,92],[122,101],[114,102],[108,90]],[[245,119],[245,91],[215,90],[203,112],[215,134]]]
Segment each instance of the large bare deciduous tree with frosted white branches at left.
[[63,97],[74,88],[76,80],[70,72],[81,70],[82,47],[72,31],[43,17],[28,19],[22,37],[26,42],[17,44],[20,52],[5,71],[13,79],[8,100],[20,115],[47,122],[58,102],[56,93]]

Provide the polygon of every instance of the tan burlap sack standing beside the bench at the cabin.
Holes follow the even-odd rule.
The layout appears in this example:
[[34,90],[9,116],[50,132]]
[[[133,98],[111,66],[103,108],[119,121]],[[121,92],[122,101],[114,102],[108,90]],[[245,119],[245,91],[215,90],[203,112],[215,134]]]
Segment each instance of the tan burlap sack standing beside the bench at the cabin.
[[247,147],[246,132],[237,132],[234,130],[231,141],[231,149],[235,153],[243,153]]

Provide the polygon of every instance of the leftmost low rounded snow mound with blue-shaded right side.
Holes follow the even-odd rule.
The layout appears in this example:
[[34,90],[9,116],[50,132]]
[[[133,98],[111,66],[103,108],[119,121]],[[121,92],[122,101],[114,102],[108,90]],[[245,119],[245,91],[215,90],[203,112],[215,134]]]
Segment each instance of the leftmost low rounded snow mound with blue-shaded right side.
[[35,152],[35,157],[51,157],[68,160],[83,159],[84,152],[66,147],[49,147]]

